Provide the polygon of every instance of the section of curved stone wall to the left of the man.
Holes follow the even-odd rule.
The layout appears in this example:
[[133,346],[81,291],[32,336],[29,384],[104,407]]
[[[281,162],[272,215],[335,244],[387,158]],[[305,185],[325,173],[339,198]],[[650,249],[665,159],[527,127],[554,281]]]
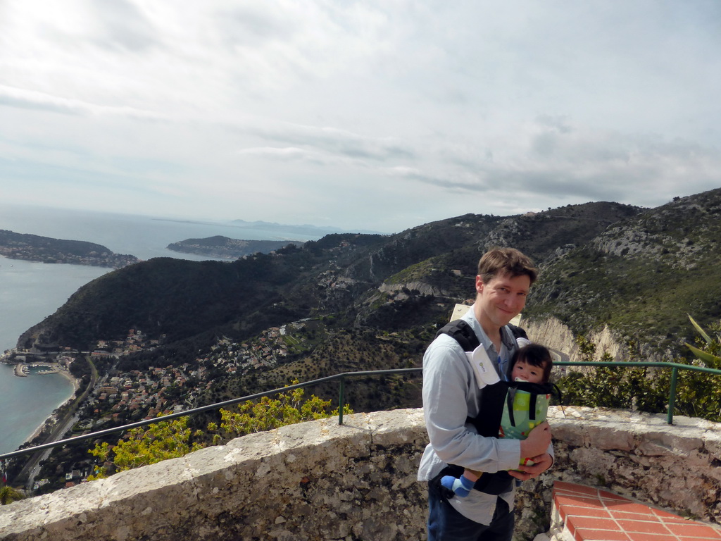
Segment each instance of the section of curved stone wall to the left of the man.
[[421,410],[250,434],[4,506],[0,539],[391,539],[378,534],[425,513],[415,482],[425,438]]

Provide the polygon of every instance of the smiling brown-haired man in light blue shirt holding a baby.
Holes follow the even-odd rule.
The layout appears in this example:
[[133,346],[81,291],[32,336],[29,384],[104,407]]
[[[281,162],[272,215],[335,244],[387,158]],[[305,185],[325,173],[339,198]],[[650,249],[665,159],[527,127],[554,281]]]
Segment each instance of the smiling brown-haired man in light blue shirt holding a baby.
[[[533,262],[512,248],[489,250],[478,263],[476,302],[461,319],[472,327],[502,379],[507,379],[508,362],[518,347],[505,325],[525,306],[536,276]],[[515,483],[497,495],[476,489],[458,498],[439,483],[447,465],[488,473],[508,470],[526,480],[553,463],[548,423],[525,440],[479,436],[468,420],[482,413],[482,392],[459,343],[448,335],[433,340],[423,357],[423,412],[430,444],[418,470],[418,479],[428,481],[428,541],[510,541],[513,535]],[[521,466],[524,458],[534,465]]]

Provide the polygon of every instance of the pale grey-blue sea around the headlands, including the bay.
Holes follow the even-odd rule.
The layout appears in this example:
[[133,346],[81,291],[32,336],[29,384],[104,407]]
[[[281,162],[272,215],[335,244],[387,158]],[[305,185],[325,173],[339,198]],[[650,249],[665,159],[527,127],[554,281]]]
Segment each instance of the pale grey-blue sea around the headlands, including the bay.
[[[56,239],[84,240],[141,260],[168,257],[208,260],[167,245],[184,239],[223,235],[246,240],[315,240],[289,230],[264,230],[232,221],[193,221],[133,214],[0,204],[0,229]],[[81,286],[111,272],[87,265],[34,263],[0,256],[0,353],[17,345],[27,329],[53,314]],[[14,375],[0,364],[0,454],[12,452],[35,433],[53,410],[73,395],[61,374]]]

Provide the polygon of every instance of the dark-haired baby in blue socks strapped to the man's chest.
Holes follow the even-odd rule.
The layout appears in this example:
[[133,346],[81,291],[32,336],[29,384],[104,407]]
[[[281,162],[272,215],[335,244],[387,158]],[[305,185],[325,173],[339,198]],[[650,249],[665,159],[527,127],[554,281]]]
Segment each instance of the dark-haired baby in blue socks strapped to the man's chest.
[[[516,350],[511,362],[512,369],[510,371],[510,381],[541,384],[548,383],[553,366],[553,359],[548,348],[540,346],[539,344],[528,343],[526,346]],[[547,404],[545,405],[545,408],[547,409]],[[542,418],[545,419],[545,411],[542,413]],[[519,431],[518,428],[503,426],[502,423],[499,429],[498,437],[526,439],[528,431],[530,431],[534,426],[535,425],[529,424],[525,427],[527,430],[521,429]],[[521,464],[527,465],[532,464],[532,462],[526,458],[523,459]],[[461,478],[455,478],[451,475],[444,476],[441,478],[441,485],[448,488],[450,491],[454,491],[456,496],[464,498],[465,496],[468,496],[473,488],[473,485],[481,475],[482,472],[466,469],[464,470],[463,475],[461,475]]]

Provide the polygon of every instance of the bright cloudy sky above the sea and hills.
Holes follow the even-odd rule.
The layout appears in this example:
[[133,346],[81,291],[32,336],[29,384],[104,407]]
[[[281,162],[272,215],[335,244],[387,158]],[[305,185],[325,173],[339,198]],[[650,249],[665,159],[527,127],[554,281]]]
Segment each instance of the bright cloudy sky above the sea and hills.
[[717,0],[0,0],[0,201],[386,233],[721,187]]

